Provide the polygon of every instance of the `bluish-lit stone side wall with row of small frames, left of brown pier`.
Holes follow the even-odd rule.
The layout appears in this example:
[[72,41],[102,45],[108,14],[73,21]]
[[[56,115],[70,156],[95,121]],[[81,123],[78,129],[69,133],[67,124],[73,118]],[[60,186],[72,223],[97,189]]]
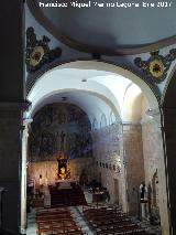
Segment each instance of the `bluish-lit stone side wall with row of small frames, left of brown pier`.
[[111,202],[122,204],[121,189],[121,125],[92,131],[96,178],[108,189]]

